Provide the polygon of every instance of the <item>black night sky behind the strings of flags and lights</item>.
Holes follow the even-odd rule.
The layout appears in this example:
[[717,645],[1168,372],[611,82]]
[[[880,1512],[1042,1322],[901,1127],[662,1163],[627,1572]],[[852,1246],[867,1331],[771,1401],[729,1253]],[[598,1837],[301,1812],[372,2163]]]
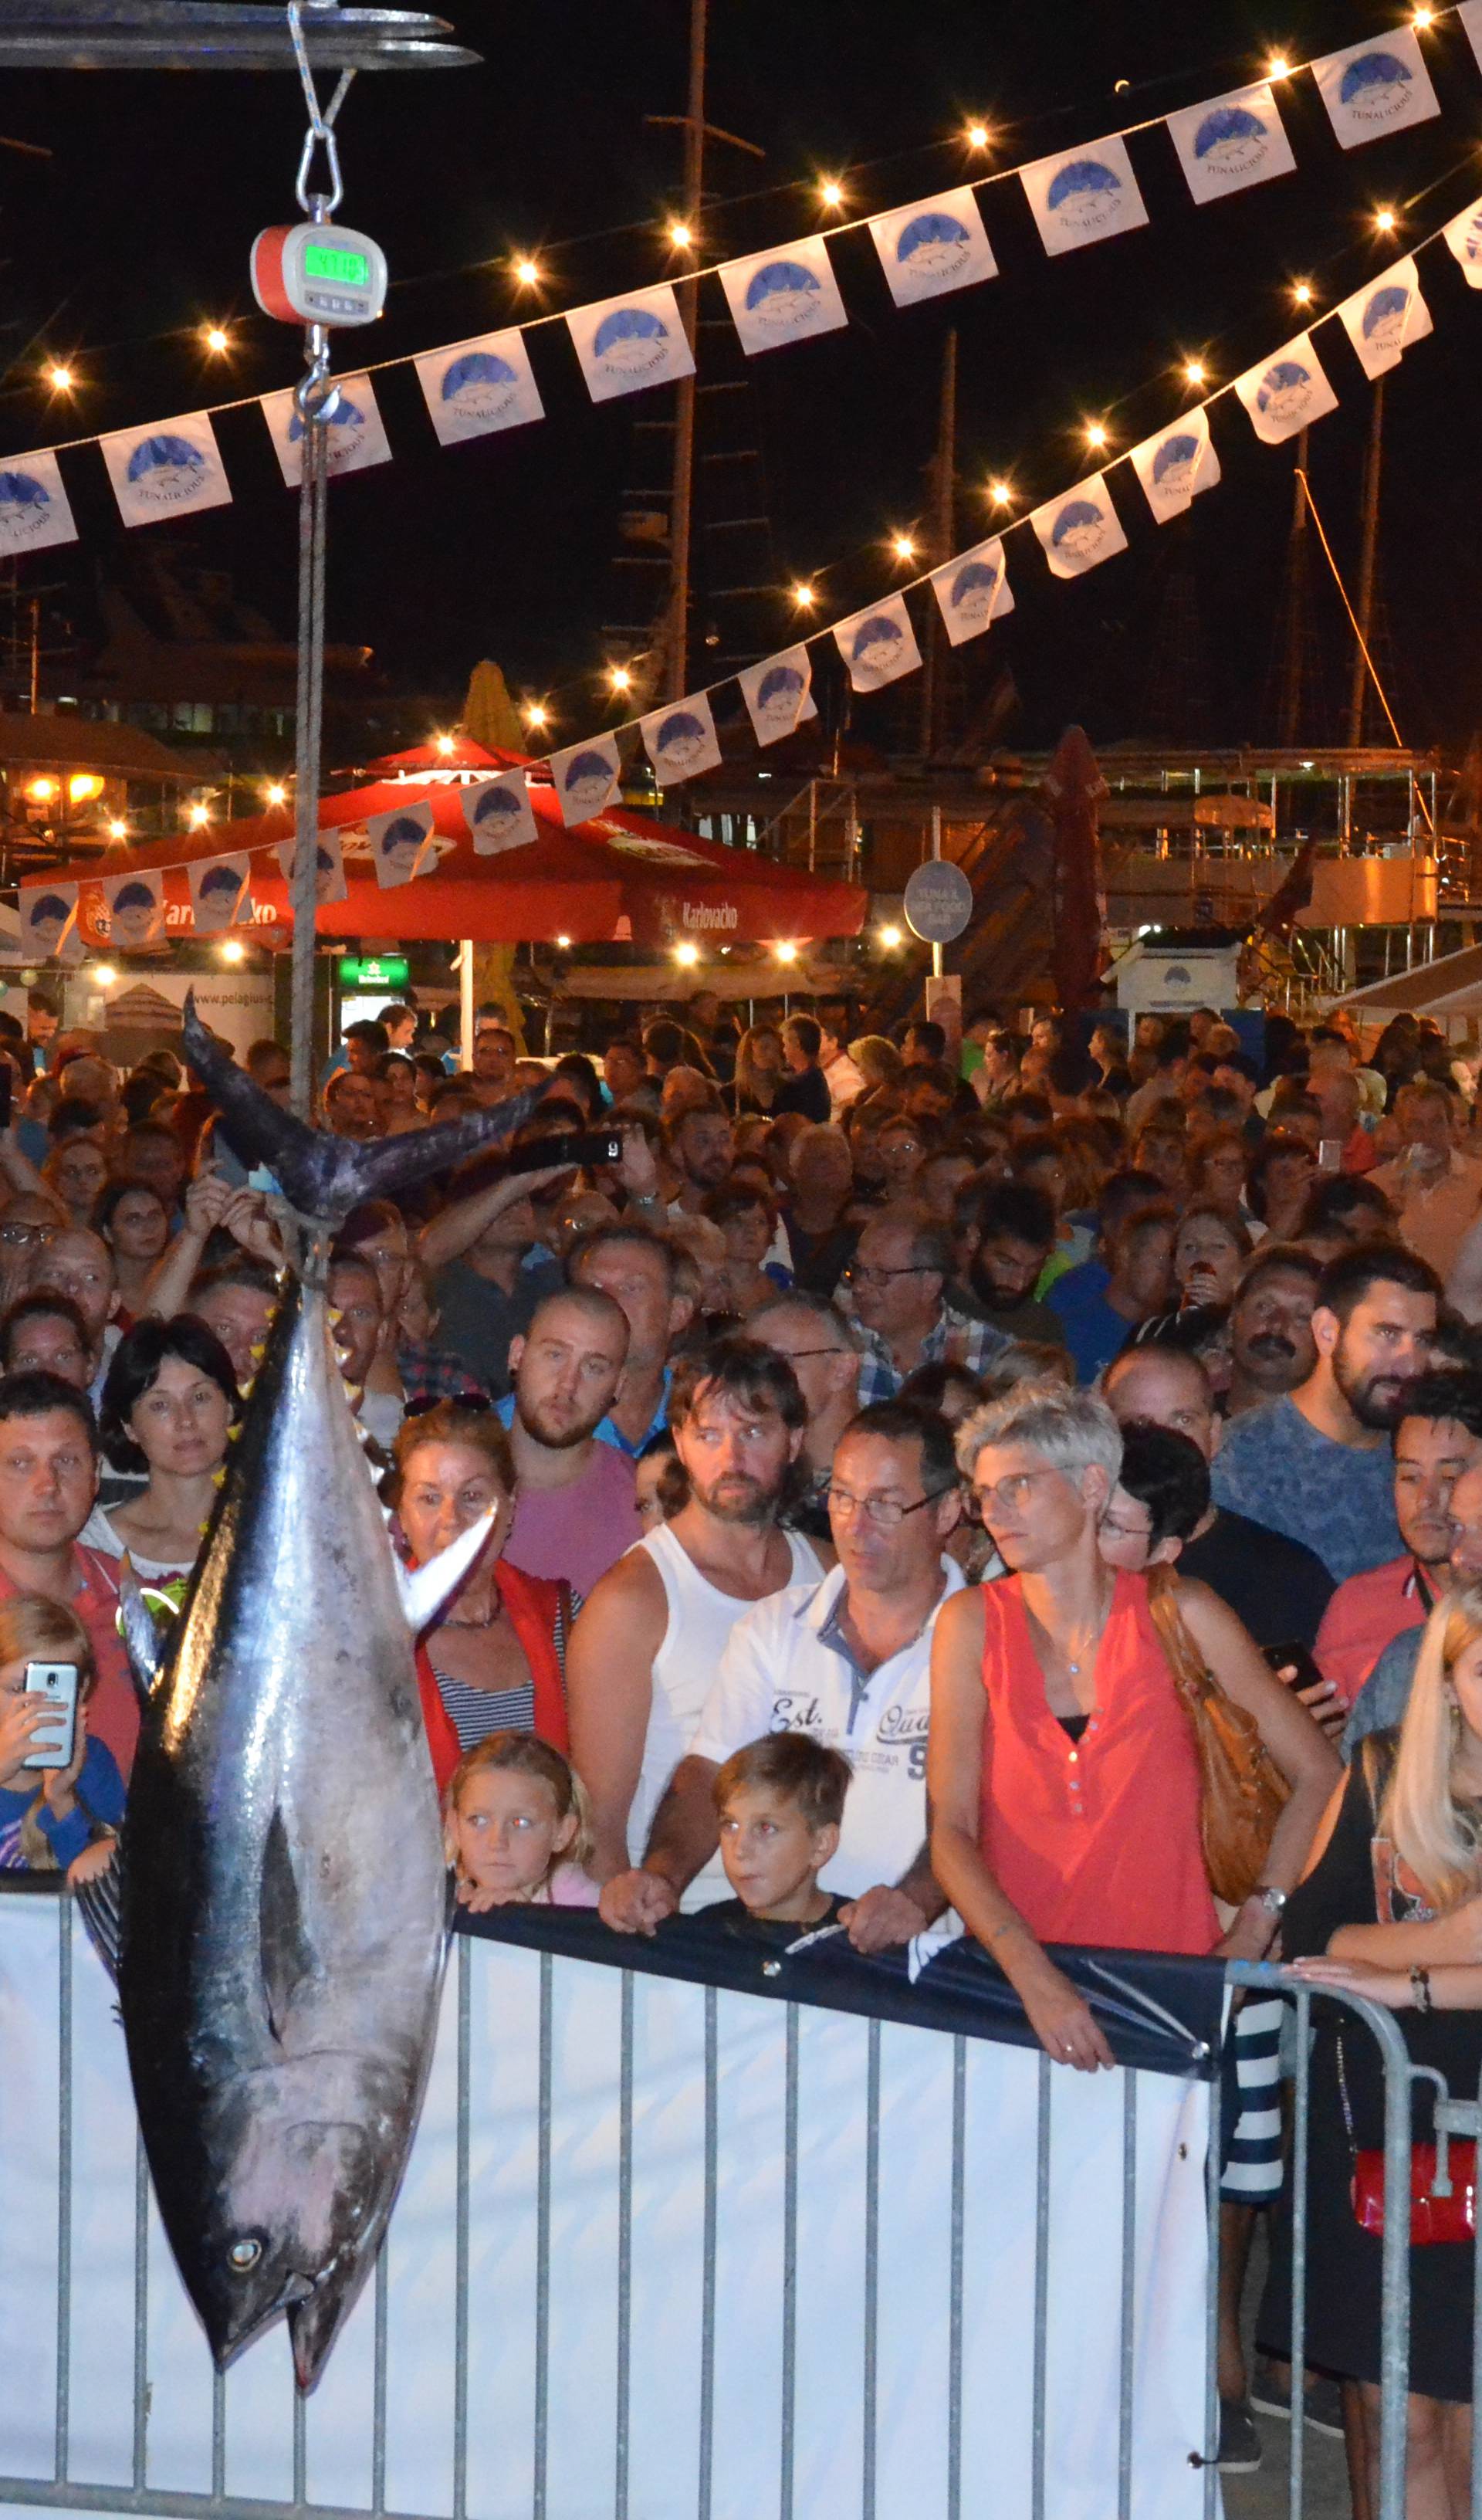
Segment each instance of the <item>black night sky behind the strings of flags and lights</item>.
[[[960,181],[980,166],[958,141],[968,116],[996,126],[996,159],[1013,164],[1232,88],[1273,45],[1306,58],[1394,23],[1394,10],[1336,0],[1285,15],[1230,0],[1200,10],[938,0],[930,13],[887,0],[713,0],[708,111],[759,141],[766,164],[713,154],[706,247],[749,252],[827,224],[812,189],[786,189],[819,171],[844,176],[852,209]],[[542,252],[557,307],[668,272],[658,219],[678,199],[678,134],[650,131],[643,116],[683,108],[686,25],[686,0],[469,5],[456,28],[484,50],[479,71],[355,83],[340,123],[343,217],[373,229],[396,282],[376,355],[527,310],[509,282],[512,247]],[[1152,214],[1137,234],[1048,262],[1018,184],[993,186],[980,202],[1001,277],[940,305],[897,312],[870,237],[842,239],[849,330],[746,363],[771,527],[761,557],[776,585],[814,575],[829,612],[844,612],[895,582],[882,537],[922,512],[948,325],[960,335],[958,544],[968,544],[991,527],[991,474],[1011,474],[1026,507],[1066,489],[1094,461],[1076,431],[1084,416],[1106,418],[1124,446],[1147,436],[1187,393],[1182,358],[1205,355],[1227,378],[1295,330],[1293,277],[1316,280],[1331,305],[1462,209],[1482,189],[1482,73],[1454,23],[1424,43],[1439,121],[1341,151],[1313,83],[1298,78],[1280,88],[1298,174],[1230,202],[1197,209],[1167,134],[1134,139]],[[1119,81],[1129,86],[1114,93]],[[255,229],[295,214],[302,108],[290,76],[8,73],[0,123],[55,149],[50,164],[0,156],[10,451],[71,433],[71,416],[30,381],[43,350],[76,360],[86,391],[71,426],[88,428],[292,383],[295,338],[252,310],[247,285]],[[776,189],[731,199],[764,184]],[[1374,204],[1404,209],[1399,247],[1374,239]],[[1406,353],[1386,396],[1384,638],[1404,736],[1464,746],[1482,663],[1472,456],[1482,295],[1444,247],[1422,257],[1422,287],[1437,333]],[[701,312],[723,312],[713,280]],[[192,335],[207,318],[239,318],[229,386]],[[1371,386],[1341,328],[1323,328],[1318,350],[1341,411],[1313,431],[1313,486],[1351,567]],[[539,333],[532,355],[547,421],[464,449],[436,446],[411,370],[378,381],[396,461],[333,494],[330,635],[370,643],[411,690],[456,690],[479,655],[494,655],[512,685],[560,693],[570,738],[607,723],[595,678],[602,622],[620,617],[620,494],[643,479],[638,461],[655,461],[638,454],[633,421],[663,416],[665,398],[595,408],[562,325]],[[703,335],[701,375],[711,358],[741,373],[716,333]],[[255,408],[217,426],[237,504],[199,519],[192,549],[232,570],[287,630],[295,501]],[[970,696],[1011,668],[1008,741],[1051,741],[1069,718],[1101,743],[1167,736],[1169,703],[1190,736],[1270,731],[1290,451],[1258,446],[1232,398],[1217,406],[1215,444],[1225,484],[1175,527],[1152,524],[1129,469],[1112,476],[1132,549],[1076,585],[1048,577],[1028,532],[1011,539],[1018,610],[968,660]],[[98,454],[63,461],[81,552],[38,554],[23,580],[86,580],[123,542]],[[786,645],[791,620],[779,597],[771,645]],[[1321,622],[1338,703],[1346,665],[1331,587]],[[703,678],[696,665],[693,680]],[[872,711],[885,708],[857,708],[859,733],[882,733]],[[1308,741],[1338,733],[1336,721],[1306,731]]]

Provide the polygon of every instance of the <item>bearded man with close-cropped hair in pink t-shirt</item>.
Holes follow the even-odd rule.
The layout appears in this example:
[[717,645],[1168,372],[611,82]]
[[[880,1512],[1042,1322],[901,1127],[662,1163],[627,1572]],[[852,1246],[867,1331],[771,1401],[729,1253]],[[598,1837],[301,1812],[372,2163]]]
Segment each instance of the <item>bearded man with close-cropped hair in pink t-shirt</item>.
[[519,1479],[504,1555],[527,1575],[590,1593],[643,1540],[628,1454],[597,1441],[623,1389],[628,1315],[595,1285],[567,1285],[509,1341],[514,1391],[497,1409]]

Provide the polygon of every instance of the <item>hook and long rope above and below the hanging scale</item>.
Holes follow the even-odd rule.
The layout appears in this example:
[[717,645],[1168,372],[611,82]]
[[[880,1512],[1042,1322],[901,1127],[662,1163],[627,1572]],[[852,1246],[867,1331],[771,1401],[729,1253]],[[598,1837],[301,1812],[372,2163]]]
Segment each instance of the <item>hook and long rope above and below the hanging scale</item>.
[[[340,71],[328,111],[320,111],[302,40],[300,0],[287,0],[287,33],[302,81],[307,131],[297,164],[297,202],[323,224],[343,199],[335,116],[350,91],[353,71]],[[325,151],[328,192],[310,192],[315,149]],[[300,491],[297,491],[297,711],[295,711],[295,854],[292,854],[292,993],[290,993],[290,1101],[300,1119],[313,1119],[313,1038],[315,1038],[315,925],[320,877],[320,751],[325,711],[325,524],[328,524],[328,423],[338,403],[330,378],[330,335],[323,323],[305,328],[307,368],[295,386],[300,416]]]

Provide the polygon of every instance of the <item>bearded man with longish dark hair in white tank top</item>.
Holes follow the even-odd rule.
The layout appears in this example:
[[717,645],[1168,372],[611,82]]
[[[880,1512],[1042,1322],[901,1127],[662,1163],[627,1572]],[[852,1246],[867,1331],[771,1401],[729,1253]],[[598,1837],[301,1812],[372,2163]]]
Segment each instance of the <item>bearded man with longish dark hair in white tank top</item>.
[[[807,1409],[791,1366],[741,1338],[675,1368],[668,1401],[691,1502],[595,1585],[567,1648],[572,1767],[592,1797],[602,1915],[650,1930],[678,1898],[643,1862],[731,1628],[789,1585],[817,1585],[827,1550],[776,1525]],[[718,1860],[686,1908],[726,1898]]]

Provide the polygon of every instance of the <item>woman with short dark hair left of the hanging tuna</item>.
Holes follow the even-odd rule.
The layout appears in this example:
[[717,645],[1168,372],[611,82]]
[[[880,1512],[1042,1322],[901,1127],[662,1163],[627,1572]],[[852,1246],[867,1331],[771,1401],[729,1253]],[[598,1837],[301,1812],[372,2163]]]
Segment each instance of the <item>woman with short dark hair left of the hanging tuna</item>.
[[239,1409],[232,1358],[204,1320],[134,1323],[113,1348],[98,1434],[116,1469],[149,1477],[129,1504],[93,1507],[88,1547],[108,1557],[129,1550],[141,1583],[189,1575]]

